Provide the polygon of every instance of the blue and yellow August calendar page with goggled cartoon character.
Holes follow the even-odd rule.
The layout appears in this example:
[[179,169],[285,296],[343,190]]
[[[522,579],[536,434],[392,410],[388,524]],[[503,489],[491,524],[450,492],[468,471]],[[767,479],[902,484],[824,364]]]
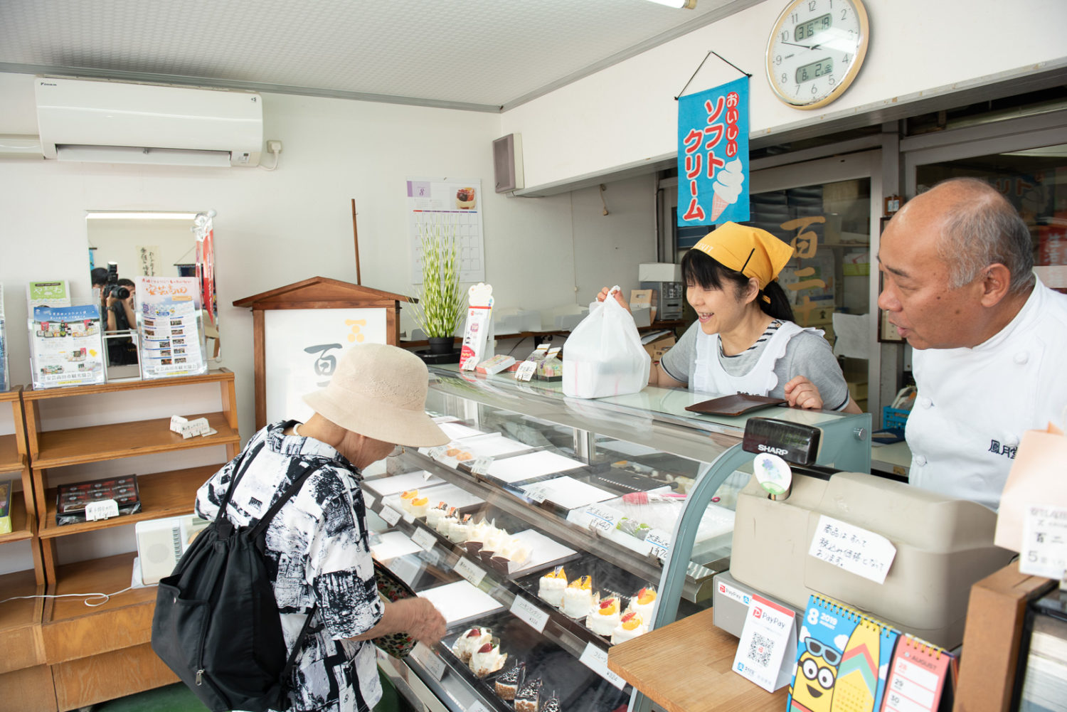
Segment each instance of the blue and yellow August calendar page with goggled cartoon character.
[[790,712],[874,712],[898,633],[812,596],[800,628]]

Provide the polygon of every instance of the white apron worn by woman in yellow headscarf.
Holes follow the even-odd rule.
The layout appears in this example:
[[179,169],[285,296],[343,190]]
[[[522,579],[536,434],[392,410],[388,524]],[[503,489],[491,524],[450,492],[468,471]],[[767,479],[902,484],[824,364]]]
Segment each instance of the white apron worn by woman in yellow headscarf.
[[[792,321],[782,321],[755,365],[744,376],[731,376],[719,363],[719,335],[697,332],[697,363],[692,369],[690,387],[702,393],[733,395],[745,393],[750,396],[765,396],[778,385],[775,364],[785,355],[790,339],[805,331]],[[814,330],[811,330],[814,331]]]

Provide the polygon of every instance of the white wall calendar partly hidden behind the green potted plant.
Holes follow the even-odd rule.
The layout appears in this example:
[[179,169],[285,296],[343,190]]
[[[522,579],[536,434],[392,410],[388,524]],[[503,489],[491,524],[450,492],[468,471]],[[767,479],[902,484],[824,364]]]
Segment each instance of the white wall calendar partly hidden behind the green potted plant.
[[460,178],[408,179],[408,231],[411,281],[423,283],[421,236],[441,232],[459,242],[460,282],[485,281],[481,222],[481,180]]

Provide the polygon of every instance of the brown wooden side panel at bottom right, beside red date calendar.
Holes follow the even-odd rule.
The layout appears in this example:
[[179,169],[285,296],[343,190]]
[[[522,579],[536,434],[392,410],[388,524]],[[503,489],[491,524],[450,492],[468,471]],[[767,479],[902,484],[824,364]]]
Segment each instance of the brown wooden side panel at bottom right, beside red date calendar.
[[971,586],[953,712],[1010,709],[1026,604],[1055,585],[1013,563]]

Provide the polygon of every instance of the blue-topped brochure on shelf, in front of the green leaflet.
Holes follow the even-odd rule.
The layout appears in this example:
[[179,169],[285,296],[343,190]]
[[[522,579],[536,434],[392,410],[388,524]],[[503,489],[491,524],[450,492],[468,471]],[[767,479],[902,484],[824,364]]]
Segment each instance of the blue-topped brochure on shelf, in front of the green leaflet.
[[96,304],[37,306],[29,323],[33,387],[103,382],[100,310]]

